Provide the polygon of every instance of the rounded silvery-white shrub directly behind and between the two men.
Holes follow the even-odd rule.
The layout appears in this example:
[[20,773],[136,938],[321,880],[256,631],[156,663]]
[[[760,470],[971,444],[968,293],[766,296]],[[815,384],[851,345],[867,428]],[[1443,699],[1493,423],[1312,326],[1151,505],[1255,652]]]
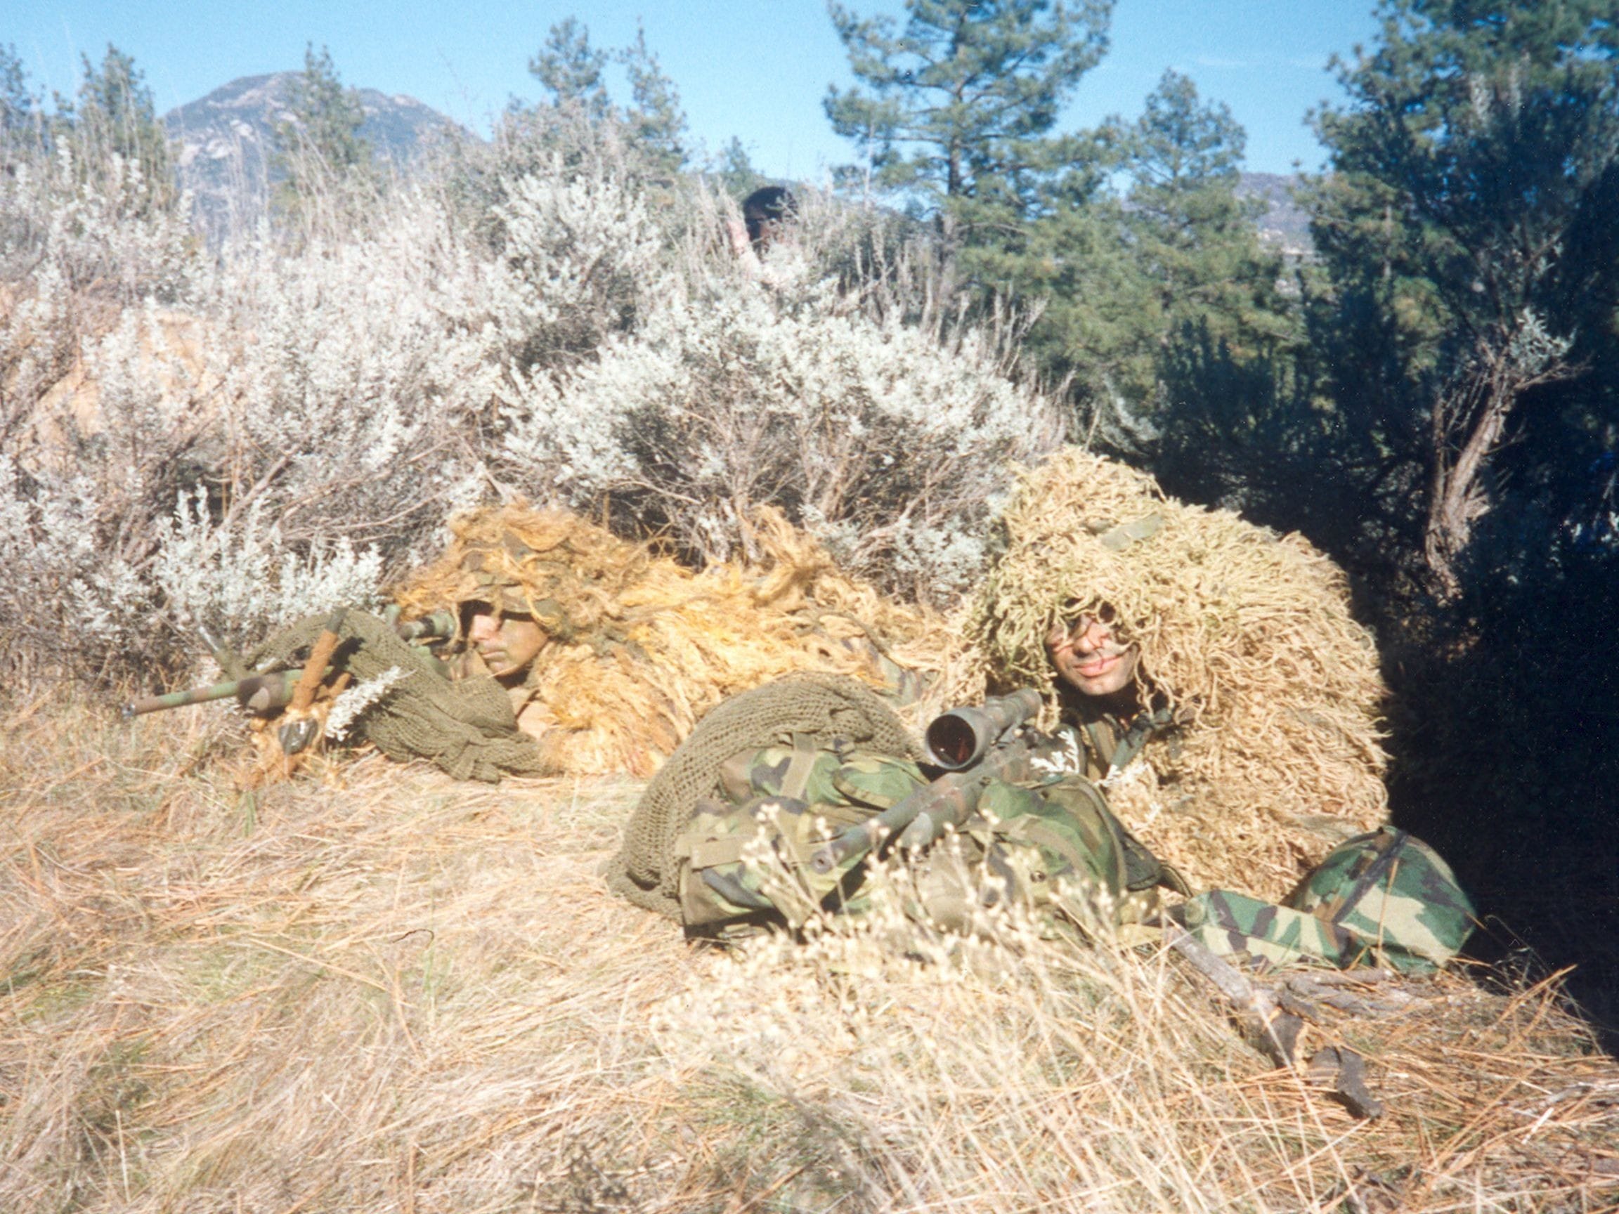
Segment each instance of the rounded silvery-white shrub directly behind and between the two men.
[[740,275],[665,299],[594,363],[516,382],[504,408],[536,497],[609,494],[706,560],[776,503],[852,570],[931,594],[967,584],[1010,463],[1060,434],[973,333],[944,348],[826,285]]

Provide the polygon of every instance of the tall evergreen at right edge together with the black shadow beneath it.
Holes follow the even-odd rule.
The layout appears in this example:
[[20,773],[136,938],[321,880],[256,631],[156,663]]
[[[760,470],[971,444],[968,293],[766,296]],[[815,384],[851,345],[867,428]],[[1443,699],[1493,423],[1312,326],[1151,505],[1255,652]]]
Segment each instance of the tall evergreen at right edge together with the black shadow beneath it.
[[1358,497],[1362,550],[1399,542],[1366,599],[1397,656],[1396,821],[1611,1020],[1619,23],[1613,0],[1378,13],[1318,115],[1315,484]]

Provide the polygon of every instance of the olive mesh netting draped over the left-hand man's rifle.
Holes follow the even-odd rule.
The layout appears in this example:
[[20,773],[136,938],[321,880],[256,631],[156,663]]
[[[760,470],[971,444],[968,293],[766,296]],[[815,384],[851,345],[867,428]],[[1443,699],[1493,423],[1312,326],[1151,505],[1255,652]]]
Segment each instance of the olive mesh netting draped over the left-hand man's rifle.
[[[327,617],[311,615],[283,628],[246,656],[248,665],[301,665],[325,623]],[[393,628],[364,612],[348,612],[337,635],[338,662],[356,683],[379,678],[390,669],[405,675],[359,717],[358,738],[393,759],[432,759],[458,780],[499,780],[544,770],[539,746],[518,732],[512,701],[495,680],[448,681],[421,649],[405,644]]]

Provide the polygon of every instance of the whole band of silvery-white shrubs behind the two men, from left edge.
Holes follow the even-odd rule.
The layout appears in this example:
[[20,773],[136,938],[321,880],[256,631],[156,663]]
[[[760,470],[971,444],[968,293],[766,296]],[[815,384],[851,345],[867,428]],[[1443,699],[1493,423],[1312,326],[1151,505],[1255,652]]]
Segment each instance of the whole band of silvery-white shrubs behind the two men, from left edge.
[[207,257],[133,168],[0,178],[0,667],[198,673],[199,625],[372,604],[491,497],[698,562],[771,503],[881,584],[968,584],[1057,419],[1004,343],[941,338],[915,233],[810,197],[761,265],[732,202],[597,151]]

